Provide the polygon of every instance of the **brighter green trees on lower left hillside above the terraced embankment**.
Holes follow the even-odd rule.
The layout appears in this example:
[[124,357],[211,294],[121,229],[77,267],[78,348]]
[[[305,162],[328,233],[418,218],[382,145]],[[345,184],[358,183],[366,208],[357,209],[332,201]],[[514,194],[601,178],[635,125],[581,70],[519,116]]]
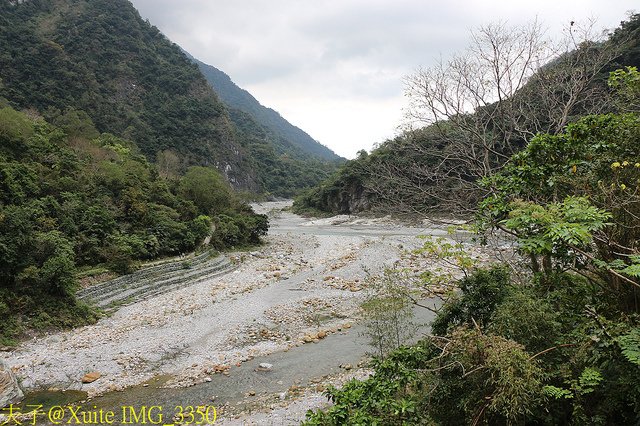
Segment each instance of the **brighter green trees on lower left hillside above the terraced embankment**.
[[27,327],[95,318],[74,299],[78,272],[116,273],[196,249],[256,244],[265,216],[213,168],[160,176],[130,141],[98,133],[82,111],[47,123],[0,108],[0,344]]

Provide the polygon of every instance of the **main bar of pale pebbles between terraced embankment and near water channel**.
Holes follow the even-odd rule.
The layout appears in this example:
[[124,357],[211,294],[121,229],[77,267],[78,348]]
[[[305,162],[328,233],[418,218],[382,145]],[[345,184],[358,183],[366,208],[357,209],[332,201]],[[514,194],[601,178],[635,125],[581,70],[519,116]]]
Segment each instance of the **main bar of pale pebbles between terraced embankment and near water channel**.
[[[35,341],[23,344],[22,353],[25,354],[26,359],[20,360],[20,363],[26,363],[30,368],[35,366],[33,371],[29,372],[26,371],[26,368],[21,369],[20,376],[24,380],[23,383],[35,384],[38,381],[57,383],[62,381],[66,377],[65,375],[75,373],[76,375],[72,377],[79,377],[78,372],[85,373],[100,365],[100,368],[103,369],[101,372],[107,376],[106,378],[114,380],[118,385],[117,388],[122,389],[124,386],[140,383],[142,380],[148,379],[148,377],[144,377],[144,374],[147,374],[146,371],[148,371],[147,367],[151,363],[159,361],[154,358],[153,354],[161,353],[159,349],[161,347],[164,349],[164,346],[167,346],[167,342],[169,342],[168,349],[170,349],[168,354],[174,351],[176,353],[180,351],[189,353],[191,349],[196,347],[194,345],[197,342],[198,345],[203,347],[198,347],[195,352],[192,352],[193,356],[180,358],[176,363],[177,369],[182,369],[184,372],[185,382],[183,383],[186,384],[186,378],[189,378],[192,382],[203,380],[202,370],[205,366],[209,369],[213,368],[212,364],[207,365],[206,361],[200,358],[198,351],[211,357],[207,359],[216,359],[220,356],[219,362],[221,364],[232,363],[233,365],[239,359],[243,361],[245,361],[245,358],[250,359],[246,356],[247,350],[255,347],[259,347],[259,350],[255,353],[256,356],[280,350],[277,349],[277,345],[283,343],[282,339],[285,336],[291,337],[292,342],[289,345],[294,346],[318,341],[327,338],[329,334],[350,329],[352,327],[351,323],[338,324],[338,321],[352,321],[351,318],[355,308],[357,308],[357,301],[360,297],[360,293],[355,292],[366,288],[367,280],[363,278],[362,273],[348,271],[343,269],[341,265],[354,261],[353,265],[355,267],[364,262],[377,265],[377,262],[383,257],[382,255],[376,257],[377,254],[374,253],[375,250],[373,249],[378,247],[377,240],[372,239],[373,241],[367,245],[352,244],[348,241],[354,240],[354,238],[346,236],[342,245],[340,245],[336,244],[339,239],[337,240],[334,236],[325,238],[324,236],[296,235],[291,238],[291,236],[272,235],[268,239],[270,240],[270,245],[250,253],[250,256],[245,255],[245,263],[236,269],[235,274],[229,274],[222,280],[215,279],[206,284],[195,284],[188,288],[177,290],[170,295],[162,295],[128,306],[121,311],[115,312],[113,316],[101,320],[96,325],[72,330],[64,335],[56,335],[63,336],[60,341],[54,338],[48,340],[47,345]],[[412,248],[409,238],[406,238],[406,244],[404,238],[401,241],[393,241],[396,243],[401,242],[403,249]],[[396,249],[389,243],[380,244],[379,247],[383,247],[383,245],[385,247],[390,246],[391,250]],[[367,248],[367,253],[363,250],[364,248]],[[368,252],[374,254],[368,254]],[[419,258],[416,258],[415,263],[406,266],[410,266],[409,269],[425,270],[418,263],[419,260]],[[300,272],[310,272],[310,268],[319,266],[324,269],[316,270],[313,274],[304,276],[304,279],[302,279],[303,276],[298,275]],[[334,269],[334,267],[338,266],[340,267]],[[246,340],[238,339],[236,343],[233,343],[226,340],[231,336],[235,336],[236,330],[233,327],[229,330],[221,329],[223,330],[221,333],[211,335],[212,338],[206,342],[202,339],[192,339],[191,336],[194,334],[203,336],[211,330],[211,328],[205,329],[205,326],[209,325],[207,324],[207,315],[214,317],[220,314],[221,309],[225,309],[220,319],[222,321],[227,319],[236,320],[238,312],[234,310],[235,306],[244,303],[245,298],[248,302],[253,303],[251,299],[253,293],[250,292],[274,284],[274,278],[271,278],[270,282],[262,281],[260,276],[263,273],[279,274],[281,279],[289,278],[289,282],[292,284],[288,284],[288,286],[300,287],[301,290],[307,293],[288,292],[294,297],[285,298],[278,302],[279,305],[276,305],[278,309],[273,311],[274,318],[281,318],[282,321],[276,321],[271,316],[265,318],[261,313],[251,314],[244,322],[244,325],[252,326],[242,330],[242,337],[246,339],[248,331],[251,329],[254,331],[257,342],[246,342]],[[323,281],[325,277],[326,281]],[[293,282],[294,280],[298,281]],[[280,287],[276,291],[287,287],[284,283],[279,285]],[[275,284],[275,286],[277,287],[278,284]],[[217,289],[215,306],[210,303],[210,293],[214,288]],[[237,294],[238,302],[231,302],[232,292]],[[303,300],[306,299],[299,299],[301,294],[308,295],[307,298],[311,300],[310,303],[303,304]],[[352,306],[345,307],[347,302],[352,303]],[[229,310],[227,310],[228,307],[230,307]],[[194,311],[198,312],[194,315]],[[318,323],[324,326],[322,330],[318,330],[318,323],[313,322],[317,318],[311,318],[313,321],[309,321],[309,317],[316,314],[322,315],[321,321],[318,320]],[[255,318],[258,318],[258,321],[252,324],[251,320]],[[187,319],[191,319],[193,322],[188,324]],[[261,333],[261,328],[264,325],[267,325],[268,333],[263,334]],[[146,327],[144,329],[146,334],[144,334],[145,337],[143,338],[145,341],[140,342],[140,330],[142,327]],[[217,327],[217,325],[214,327]],[[305,331],[310,330],[312,327],[315,329],[314,332],[309,332],[307,333],[308,335],[305,334]],[[276,335],[273,330],[278,331],[280,334]],[[163,335],[163,339],[158,339],[159,331],[166,331],[166,338]],[[224,340],[220,340],[218,337]],[[162,340],[162,346],[160,343],[156,343],[154,339],[158,342]],[[249,346],[239,348],[241,344]],[[241,353],[236,356],[232,353],[232,349],[241,349]],[[123,359],[124,365],[117,364],[118,352],[121,352],[121,355],[126,357],[131,357],[131,359]],[[59,354],[64,354],[64,357],[58,360]],[[11,357],[12,355],[10,355]],[[56,360],[56,362],[59,361],[60,365],[73,367],[63,367],[59,371],[51,373],[53,371],[51,366],[37,366],[35,359],[39,362],[42,359]],[[14,361],[14,365],[18,364],[18,362],[15,362],[16,356],[13,356],[12,361]],[[98,362],[104,362],[104,366],[103,364],[98,364]],[[189,370],[189,367],[194,364],[198,366],[196,368],[199,368],[200,371]],[[72,368],[76,370],[74,371]],[[346,368],[342,370],[343,374],[345,374]],[[228,371],[223,369],[219,369],[216,372],[225,376],[230,375]],[[47,376],[49,373],[52,374],[50,378]],[[77,384],[80,386],[79,382]],[[116,386],[107,382],[105,378],[100,379],[92,386],[96,386],[101,392],[107,387],[113,386],[114,389],[116,388]]]

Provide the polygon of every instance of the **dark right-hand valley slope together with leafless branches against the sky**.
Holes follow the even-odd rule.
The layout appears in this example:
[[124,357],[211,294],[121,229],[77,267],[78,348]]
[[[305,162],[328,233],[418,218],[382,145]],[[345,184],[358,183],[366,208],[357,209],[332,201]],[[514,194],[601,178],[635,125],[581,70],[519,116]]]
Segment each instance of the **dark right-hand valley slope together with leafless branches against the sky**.
[[[531,50],[543,49],[543,42],[526,44],[537,36],[535,29],[523,33],[520,29],[488,27],[485,31],[476,38],[478,44],[454,57],[448,68],[426,70],[408,78],[407,95],[418,105],[408,108],[409,118],[422,119],[415,129],[347,163],[301,195],[296,210],[471,215],[488,194],[479,185],[482,178],[498,171],[538,132],[558,134],[582,115],[615,111],[606,85],[608,72],[640,65],[639,15],[631,16],[604,40],[569,39],[575,50],[556,56],[544,66],[529,57],[505,58],[491,51],[492,45],[504,52],[521,51],[523,44]],[[522,34],[528,38],[523,40]],[[482,36],[488,39],[484,44]],[[483,55],[469,62],[467,57],[473,57],[474,51],[476,56],[478,51]],[[502,82],[495,76],[492,80],[492,60],[505,67],[501,70]],[[528,60],[528,67],[506,68],[508,60]],[[482,71],[487,67],[486,77],[474,74],[487,73]],[[530,76],[514,90],[510,77],[516,71]],[[486,86],[476,87],[480,82]],[[437,90],[425,92],[425,86]],[[505,97],[508,90],[513,96]],[[499,98],[502,101],[495,102]],[[460,104],[477,108],[473,112],[457,110]]]

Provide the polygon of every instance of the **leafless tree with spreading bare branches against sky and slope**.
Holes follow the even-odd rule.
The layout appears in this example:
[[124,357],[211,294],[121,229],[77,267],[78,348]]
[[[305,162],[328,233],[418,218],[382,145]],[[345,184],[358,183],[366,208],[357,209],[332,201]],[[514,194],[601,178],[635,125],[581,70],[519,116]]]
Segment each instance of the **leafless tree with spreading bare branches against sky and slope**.
[[382,158],[369,191],[395,210],[473,210],[479,181],[533,136],[607,108],[601,76],[622,46],[593,28],[572,22],[552,42],[537,21],[487,25],[462,54],[408,76],[409,130],[389,144],[404,159]]

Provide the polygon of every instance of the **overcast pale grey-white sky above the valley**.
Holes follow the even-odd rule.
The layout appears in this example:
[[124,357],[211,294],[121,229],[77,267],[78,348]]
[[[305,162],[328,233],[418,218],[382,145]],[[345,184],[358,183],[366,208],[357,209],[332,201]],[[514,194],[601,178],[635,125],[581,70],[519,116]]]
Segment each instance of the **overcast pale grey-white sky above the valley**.
[[571,21],[615,28],[637,0],[132,0],[201,61],[336,153],[397,134],[402,77],[459,52],[470,30],[536,16],[551,36]]

